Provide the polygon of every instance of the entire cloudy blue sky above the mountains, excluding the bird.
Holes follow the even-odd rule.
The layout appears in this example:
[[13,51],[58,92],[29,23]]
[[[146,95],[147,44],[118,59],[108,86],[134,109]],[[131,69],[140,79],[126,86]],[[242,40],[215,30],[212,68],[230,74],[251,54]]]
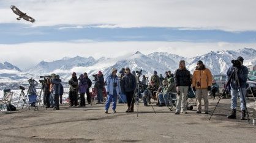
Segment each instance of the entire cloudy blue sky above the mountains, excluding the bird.
[[[36,23],[17,21],[10,5]],[[76,55],[117,57],[141,51],[194,57],[255,49],[255,6],[249,0],[0,1],[0,62],[27,69],[42,60]]]

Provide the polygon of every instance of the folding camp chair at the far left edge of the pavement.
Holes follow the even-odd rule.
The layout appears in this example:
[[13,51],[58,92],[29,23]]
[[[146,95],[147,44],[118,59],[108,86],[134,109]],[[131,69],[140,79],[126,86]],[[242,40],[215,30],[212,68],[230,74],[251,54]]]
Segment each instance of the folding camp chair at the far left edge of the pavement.
[[2,100],[0,100],[0,111],[4,111],[6,107],[9,108],[10,111],[10,104],[12,102],[12,96],[14,92],[10,92],[10,89],[4,90],[4,96],[2,97]]

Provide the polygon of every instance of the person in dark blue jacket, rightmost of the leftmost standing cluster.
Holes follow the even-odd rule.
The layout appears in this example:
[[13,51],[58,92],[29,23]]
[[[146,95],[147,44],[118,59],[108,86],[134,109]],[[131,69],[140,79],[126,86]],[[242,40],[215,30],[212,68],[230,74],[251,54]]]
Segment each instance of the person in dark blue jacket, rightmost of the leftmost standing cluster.
[[51,84],[53,85],[53,95],[55,100],[55,107],[53,110],[59,110],[59,95],[62,94],[63,89],[61,89],[61,79],[59,79],[59,75],[56,75],[53,79],[51,79]]

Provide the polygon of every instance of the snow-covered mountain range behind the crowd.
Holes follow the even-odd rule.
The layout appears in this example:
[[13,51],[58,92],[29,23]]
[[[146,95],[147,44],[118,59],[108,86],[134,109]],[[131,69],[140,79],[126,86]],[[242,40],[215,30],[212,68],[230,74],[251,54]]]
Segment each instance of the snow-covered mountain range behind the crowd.
[[244,58],[244,65],[256,65],[256,50],[249,48],[236,51],[211,51],[194,58],[180,57],[179,55],[167,52],[153,52],[144,55],[137,51],[116,58],[102,57],[98,60],[92,57],[77,56],[73,58],[64,57],[61,60],[52,62],[41,61],[26,72],[21,72],[19,68],[10,63],[0,63],[0,79],[19,80],[56,73],[62,79],[67,80],[71,77],[72,72],[77,72],[77,75],[88,72],[89,77],[91,77],[92,74],[97,74],[98,71],[102,71],[104,75],[109,75],[111,68],[121,69],[124,67],[129,67],[132,71],[142,69],[143,74],[150,76],[154,70],[159,74],[164,74],[165,71],[169,70],[174,72],[178,68],[179,60],[187,62],[186,65],[190,72],[194,72],[197,61],[202,60],[206,67],[211,70],[212,74],[215,75],[225,74],[228,67],[232,65],[231,60],[239,56]]

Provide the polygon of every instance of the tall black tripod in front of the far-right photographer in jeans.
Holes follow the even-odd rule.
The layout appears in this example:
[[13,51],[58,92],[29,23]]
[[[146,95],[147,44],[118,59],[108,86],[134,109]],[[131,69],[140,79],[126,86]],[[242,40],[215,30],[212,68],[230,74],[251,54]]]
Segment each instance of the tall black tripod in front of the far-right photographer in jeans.
[[[232,73],[231,73],[230,77],[228,78],[228,82],[227,82],[227,84],[225,85],[224,91],[227,89],[227,86],[231,83],[231,80],[232,80],[233,77],[235,77],[235,83],[236,83],[236,85],[238,86],[239,90],[242,89],[242,88],[240,87],[240,82],[239,82],[239,78],[238,78],[238,69],[237,69],[236,67],[233,67],[233,68],[234,68],[234,69],[232,70]],[[243,96],[243,103],[244,103],[244,106],[246,107],[246,114],[247,114],[248,124],[250,124],[249,113],[248,113],[247,106],[246,106],[246,97],[245,97],[244,92],[243,92],[242,90],[241,90],[241,92],[242,92],[242,96]],[[220,99],[221,99],[221,97],[223,96],[223,94],[224,94],[224,92],[222,92],[222,94],[221,94],[221,96],[220,96],[220,98],[219,98],[219,101],[217,102],[217,104],[216,104],[216,106],[215,106],[215,108],[214,108],[214,110],[213,110],[213,113],[214,113],[214,111],[216,110],[217,105],[219,104]],[[211,116],[213,116],[213,113],[211,113]],[[209,118],[209,120],[211,120],[211,117]]]

